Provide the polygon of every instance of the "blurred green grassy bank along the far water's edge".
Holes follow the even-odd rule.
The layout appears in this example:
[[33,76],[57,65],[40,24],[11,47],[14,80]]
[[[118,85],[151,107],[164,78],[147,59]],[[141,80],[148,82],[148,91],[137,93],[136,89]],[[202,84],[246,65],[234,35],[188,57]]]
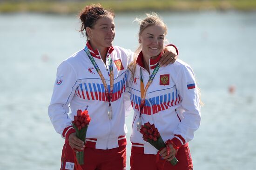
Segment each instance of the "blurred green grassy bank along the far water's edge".
[[0,13],[78,13],[84,6],[100,3],[115,12],[135,11],[256,11],[256,0],[0,0]]

